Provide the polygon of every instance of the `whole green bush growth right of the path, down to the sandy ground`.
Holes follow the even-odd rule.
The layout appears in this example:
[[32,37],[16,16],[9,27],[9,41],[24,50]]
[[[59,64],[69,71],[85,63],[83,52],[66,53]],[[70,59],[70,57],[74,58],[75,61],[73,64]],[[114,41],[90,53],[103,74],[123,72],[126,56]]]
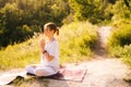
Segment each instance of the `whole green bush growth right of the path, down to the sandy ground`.
[[131,24],[121,24],[108,41],[108,51],[111,57],[121,58],[131,66]]

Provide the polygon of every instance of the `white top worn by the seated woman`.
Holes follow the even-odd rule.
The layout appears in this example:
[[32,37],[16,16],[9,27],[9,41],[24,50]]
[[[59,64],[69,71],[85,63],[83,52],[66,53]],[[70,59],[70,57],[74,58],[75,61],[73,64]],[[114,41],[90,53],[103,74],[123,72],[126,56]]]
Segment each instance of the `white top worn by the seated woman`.
[[53,59],[51,61],[46,60],[45,55],[41,55],[41,64],[44,66],[50,66],[57,73],[59,71],[59,45],[56,39],[48,41],[45,46],[45,50],[52,55]]

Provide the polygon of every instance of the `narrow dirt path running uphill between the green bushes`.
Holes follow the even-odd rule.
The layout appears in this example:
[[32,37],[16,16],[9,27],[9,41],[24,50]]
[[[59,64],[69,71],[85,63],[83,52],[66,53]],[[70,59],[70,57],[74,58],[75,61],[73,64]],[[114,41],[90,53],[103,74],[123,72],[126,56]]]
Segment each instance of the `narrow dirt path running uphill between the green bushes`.
[[107,40],[112,29],[110,26],[97,28],[98,39],[94,49],[96,58],[107,55]]

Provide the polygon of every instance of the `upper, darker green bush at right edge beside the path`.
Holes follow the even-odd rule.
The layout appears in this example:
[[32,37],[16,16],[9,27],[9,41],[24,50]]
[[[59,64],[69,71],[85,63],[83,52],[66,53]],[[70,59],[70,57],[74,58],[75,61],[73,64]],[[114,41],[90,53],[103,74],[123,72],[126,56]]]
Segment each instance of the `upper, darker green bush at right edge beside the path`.
[[131,24],[119,25],[109,39],[108,46],[124,46],[131,44]]

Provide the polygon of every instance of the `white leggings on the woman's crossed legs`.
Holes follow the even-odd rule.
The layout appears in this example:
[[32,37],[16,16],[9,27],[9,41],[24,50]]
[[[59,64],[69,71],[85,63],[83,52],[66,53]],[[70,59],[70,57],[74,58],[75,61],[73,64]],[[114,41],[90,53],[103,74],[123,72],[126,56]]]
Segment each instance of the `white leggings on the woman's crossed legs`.
[[40,64],[27,65],[26,71],[29,74],[34,74],[36,76],[50,76],[57,74],[52,67],[43,66]]

